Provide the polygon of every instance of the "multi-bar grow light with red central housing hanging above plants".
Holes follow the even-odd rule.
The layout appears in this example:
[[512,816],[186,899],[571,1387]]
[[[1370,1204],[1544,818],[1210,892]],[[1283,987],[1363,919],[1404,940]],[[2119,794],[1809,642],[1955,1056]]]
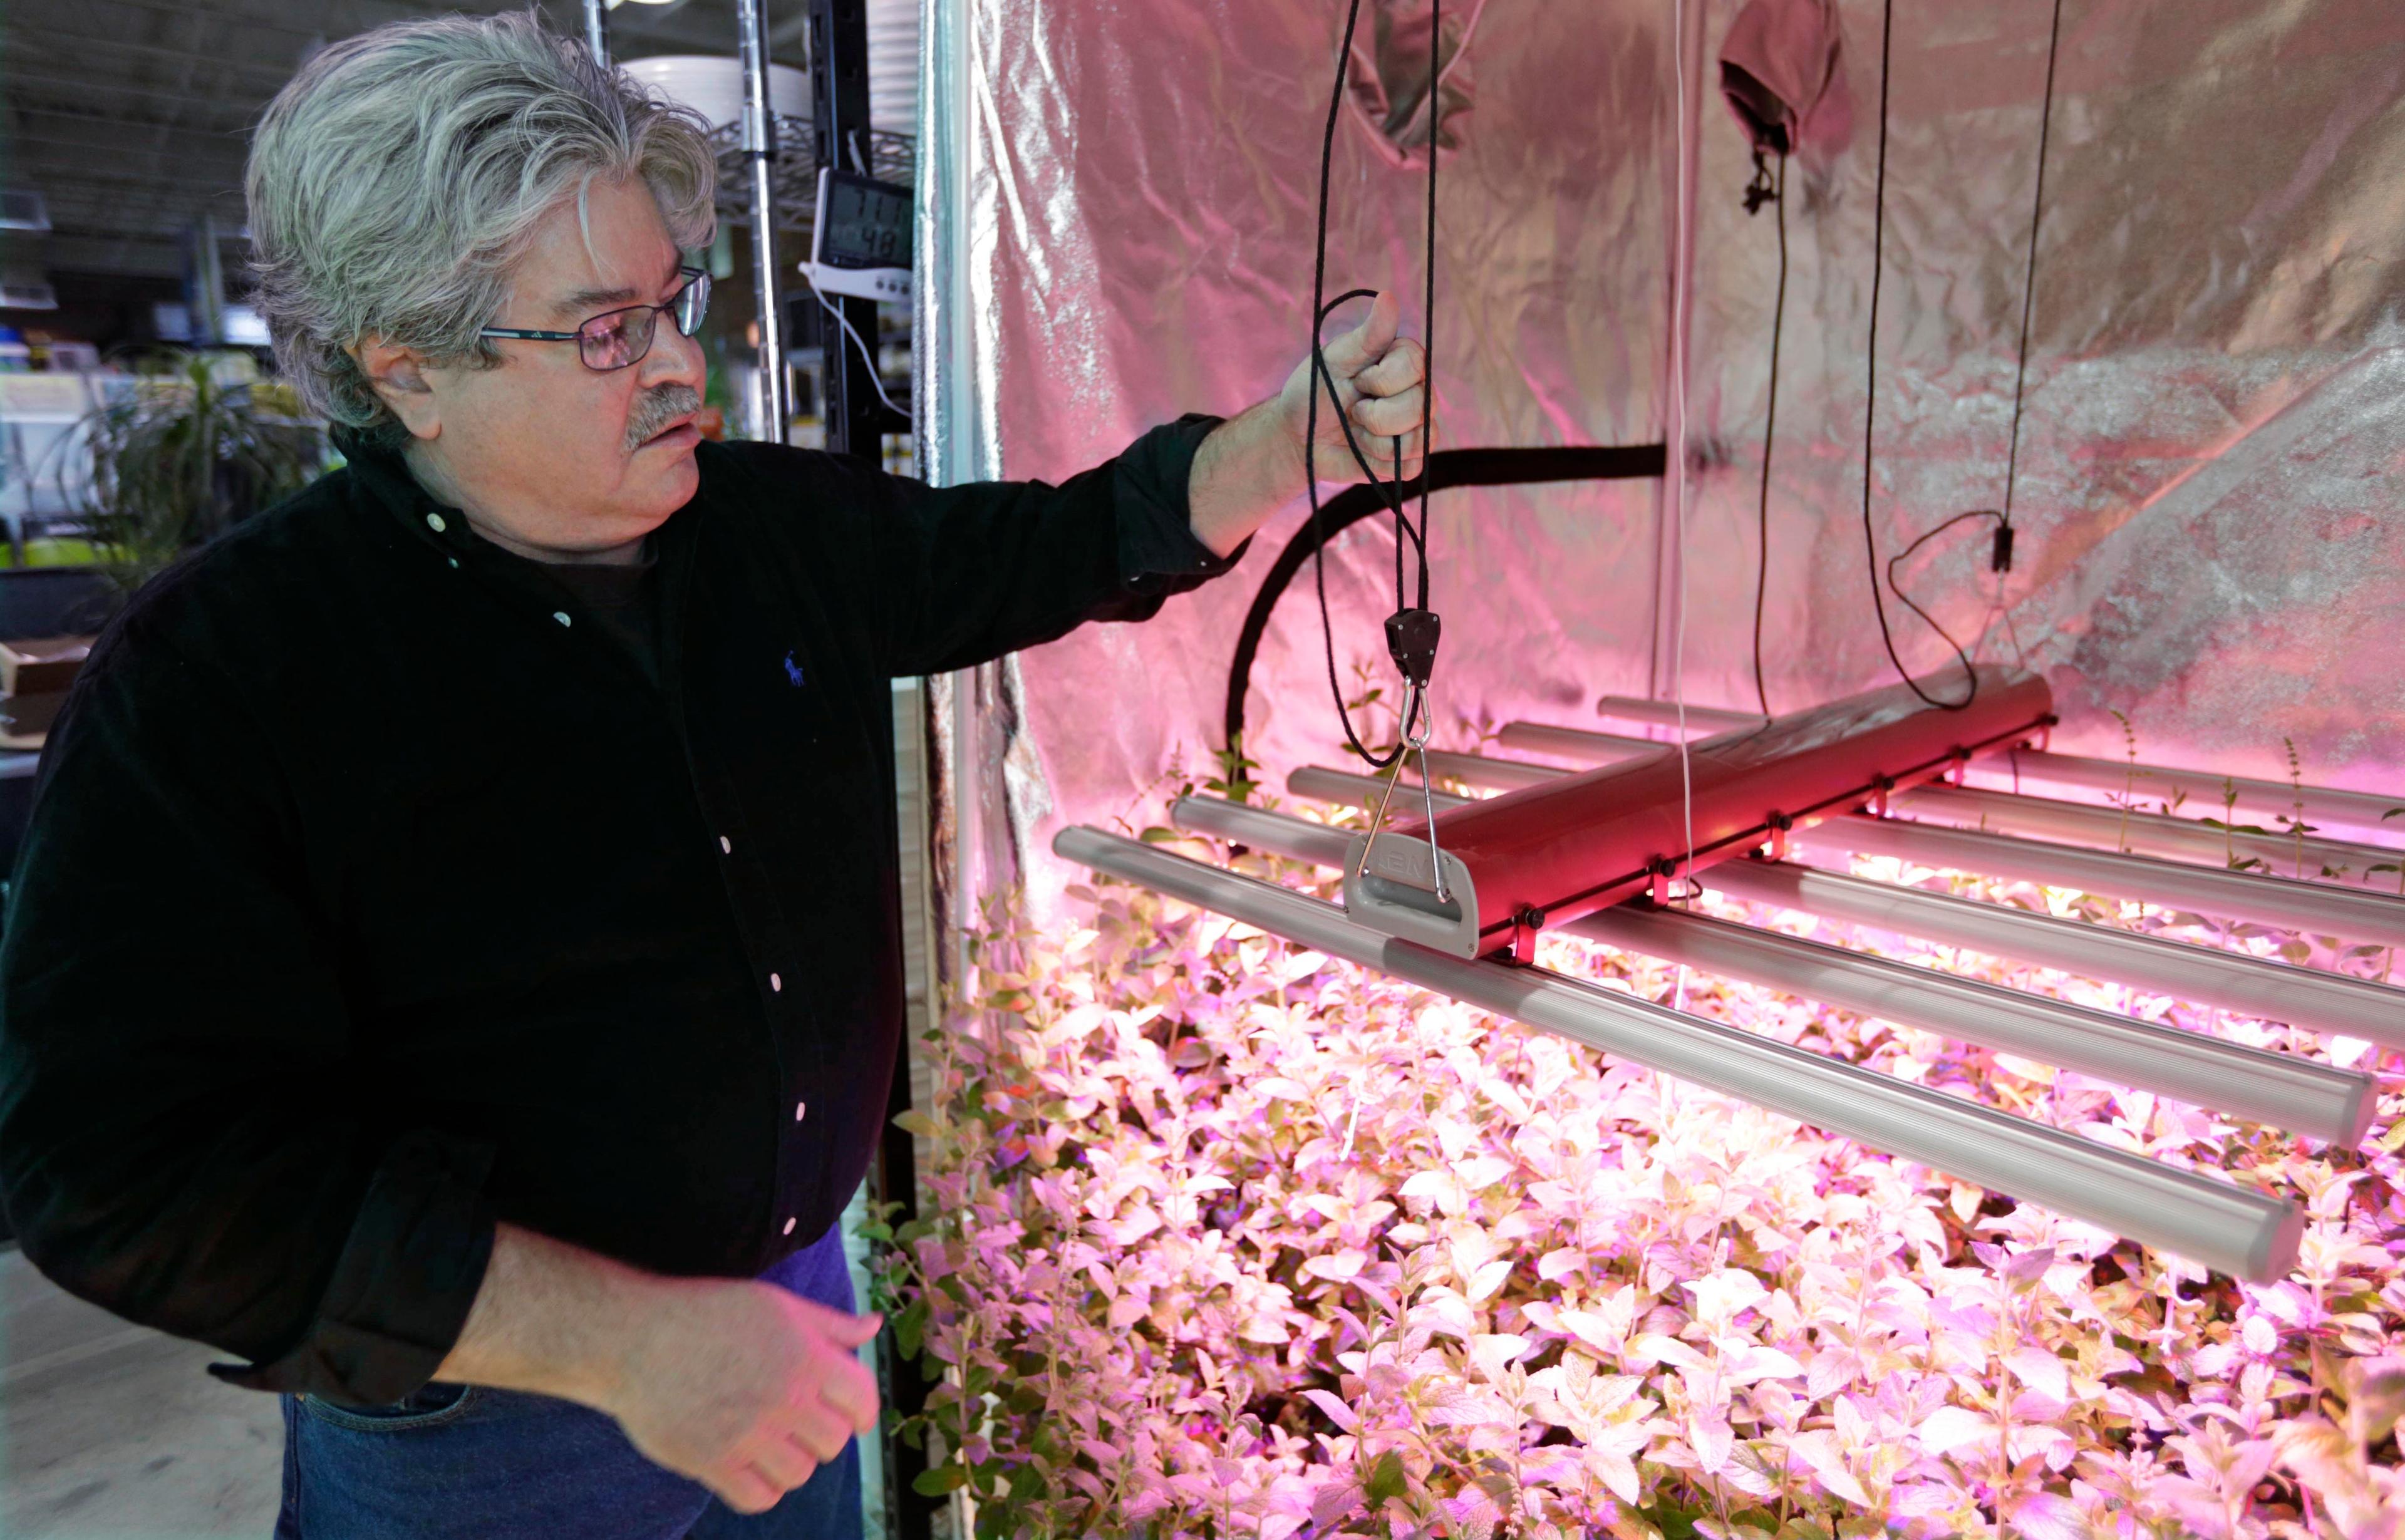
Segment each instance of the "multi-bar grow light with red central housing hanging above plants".
[[[1676,727],[1676,707],[1659,703],[1604,698],[1599,715]],[[2290,1270],[2302,1232],[2294,1203],[1530,967],[1534,936],[1561,929],[2352,1145],[2374,1112],[2376,1080],[2364,1071],[1691,914],[1662,900],[1674,878],[1693,878],[1746,902],[2405,1049],[2405,989],[1789,859],[1888,854],[2405,946],[2405,898],[2359,886],[2371,864],[2400,859],[2395,849],[2273,835],[2263,840],[2268,849],[2256,852],[2251,845],[2239,849],[2244,835],[2186,818],[1967,789],[1967,777],[1989,768],[2054,784],[2097,784],[2102,772],[2092,765],[2109,765],[2049,753],[2042,746],[2051,724],[2047,686],[2011,669],[1982,669],[1972,710],[1958,712],[1934,710],[1910,686],[1895,686],[1775,719],[1700,707],[1686,707],[1686,719],[1691,732],[1710,734],[1686,748],[1691,818],[1674,744],[1515,722],[1498,734],[1501,748],[1597,768],[1575,772],[1431,751],[1431,775],[1496,792],[1472,799],[1426,787],[1414,799],[1431,808],[1441,835],[1445,900],[1436,898],[1426,840],[1380,840],[1364,873],[1361,835],[1212,796],[1181,799],[1171,818],[1195,833],[1342,871],[1344,907],[1089,828],[1063,830],[1053,849],[2237,1278],[2266,1283]],[[2109,770],[2112,789],[2131,784],[2128,765]],[[2210,804],[2227,801],[2222,777],[2157,768],[2136,775],[2152,777],[2150,792],[2174,782],[2210,784]],[[1955,784],[1934,784],[1938,777]],[[2359,828],[2376,828],[2367,818],[2374,804],[2393,806],[2362,792],[2232,787],[2258,801],[2278,794],[2282,806],[2306,801],[2311,816]],[[1287,789],[1371,806],[1385,787],[1376,777],[1306,765],[1287,777]],[[2311,876],[2234,871],[2232,854],[2278,857]]]

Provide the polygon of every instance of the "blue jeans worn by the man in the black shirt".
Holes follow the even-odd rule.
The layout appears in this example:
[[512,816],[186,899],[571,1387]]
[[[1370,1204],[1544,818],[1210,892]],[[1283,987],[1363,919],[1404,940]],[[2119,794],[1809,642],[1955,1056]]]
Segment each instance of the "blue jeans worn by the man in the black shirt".
[[[851,1311],[842,1227],[767,1273]],[[387,1408],[284,1396],[274,1540],[859,1540],[861,1449],[767,1514],[736,1514],[642,1458],[604,1412],[524,1391],[428,1384]]]

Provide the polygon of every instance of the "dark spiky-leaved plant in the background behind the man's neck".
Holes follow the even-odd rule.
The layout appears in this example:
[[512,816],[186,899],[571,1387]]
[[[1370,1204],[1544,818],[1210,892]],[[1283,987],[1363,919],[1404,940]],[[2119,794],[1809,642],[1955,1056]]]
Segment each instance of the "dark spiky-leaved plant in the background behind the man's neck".
[[224,380],[207,354],[154,361],[130,392],[87,414],[82,433],[91,496],[77,527],[127,594],[301,491],[325,460],[289,390]]

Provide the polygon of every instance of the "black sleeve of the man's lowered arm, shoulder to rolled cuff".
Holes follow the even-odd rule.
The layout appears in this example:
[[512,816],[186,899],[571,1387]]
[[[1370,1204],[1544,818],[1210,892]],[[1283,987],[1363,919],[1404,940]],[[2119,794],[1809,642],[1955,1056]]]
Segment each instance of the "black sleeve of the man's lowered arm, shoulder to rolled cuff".
[[493,1249],[491,1141],[361,1114],[277,758],[137,606],[51,734],[0,941],[0,1201],[26,1258],[212,1374],[382,1405]]

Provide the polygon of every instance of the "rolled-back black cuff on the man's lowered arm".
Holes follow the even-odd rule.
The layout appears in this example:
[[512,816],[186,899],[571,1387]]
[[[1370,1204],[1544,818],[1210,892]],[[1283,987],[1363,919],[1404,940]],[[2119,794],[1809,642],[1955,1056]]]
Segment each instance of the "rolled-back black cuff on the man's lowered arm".
[[392,1405],[450,1357],[493,1258],[493,1143],[406,1133],[385,1153],[310,1328],[257,1364],[209,1364],[248,1391]]

